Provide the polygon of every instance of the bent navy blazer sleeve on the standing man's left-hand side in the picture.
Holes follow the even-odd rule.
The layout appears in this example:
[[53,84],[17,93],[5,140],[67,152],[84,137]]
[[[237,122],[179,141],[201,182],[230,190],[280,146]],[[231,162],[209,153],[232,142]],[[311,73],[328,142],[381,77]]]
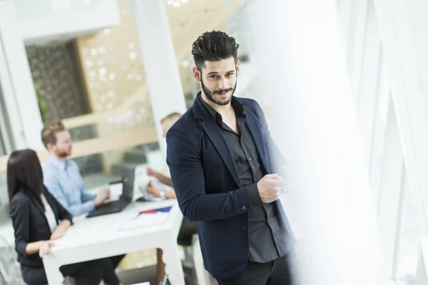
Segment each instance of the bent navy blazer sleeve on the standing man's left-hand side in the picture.
[[166,135],[166,160],[185,219],[190,222],[223,219],[255,207],[251,204],[248,187],[206,194],[200,145],[194,137],[178,125],[170,128]]

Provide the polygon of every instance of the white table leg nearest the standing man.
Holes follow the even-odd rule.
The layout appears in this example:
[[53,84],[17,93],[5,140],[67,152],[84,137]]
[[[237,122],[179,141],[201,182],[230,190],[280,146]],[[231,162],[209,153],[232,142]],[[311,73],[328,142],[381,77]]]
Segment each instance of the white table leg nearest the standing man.
[[180,253],[178,252],[176,239],[172,237],[165,240],[163,246],[163,262],[165,263],[165,272],[169,276],[172,285],[185,285],[183,266],[181,264]]

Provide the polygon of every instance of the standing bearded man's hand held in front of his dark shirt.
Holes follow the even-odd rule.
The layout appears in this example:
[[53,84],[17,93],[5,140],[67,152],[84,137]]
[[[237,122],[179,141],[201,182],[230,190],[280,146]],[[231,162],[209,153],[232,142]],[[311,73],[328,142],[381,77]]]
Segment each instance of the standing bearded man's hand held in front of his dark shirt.
[[285,187],[285,180],[277,174],[265,175],[258,183],[257,189],[263,203],[279,199]]

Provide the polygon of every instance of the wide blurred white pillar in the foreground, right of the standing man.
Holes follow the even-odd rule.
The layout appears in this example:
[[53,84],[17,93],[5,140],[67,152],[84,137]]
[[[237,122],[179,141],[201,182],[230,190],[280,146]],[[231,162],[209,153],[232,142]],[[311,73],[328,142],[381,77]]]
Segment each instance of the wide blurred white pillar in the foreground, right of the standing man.
[[295,175],[282,196],[303,284],[384,284],[382,248],[335,0],[254,0],[260,84]]

